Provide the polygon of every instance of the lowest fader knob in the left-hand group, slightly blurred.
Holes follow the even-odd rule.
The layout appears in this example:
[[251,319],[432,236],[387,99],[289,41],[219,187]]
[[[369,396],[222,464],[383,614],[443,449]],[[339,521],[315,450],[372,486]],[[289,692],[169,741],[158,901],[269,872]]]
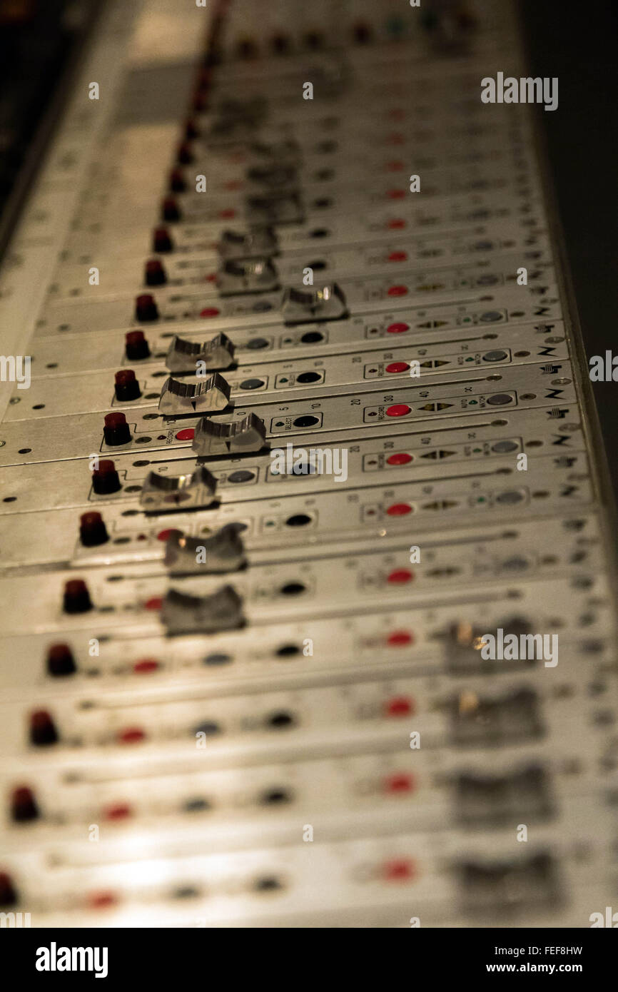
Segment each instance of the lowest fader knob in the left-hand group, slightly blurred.
[[232,585],[209,596],[191,596],[169,589],[161,607],[168,634],[216,634],[244,626],[242,599]]

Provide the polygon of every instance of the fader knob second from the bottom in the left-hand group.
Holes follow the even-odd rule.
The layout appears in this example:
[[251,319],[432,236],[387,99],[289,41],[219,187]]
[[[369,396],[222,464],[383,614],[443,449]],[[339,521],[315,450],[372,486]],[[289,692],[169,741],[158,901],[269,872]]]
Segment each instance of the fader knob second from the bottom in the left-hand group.
[[210,538],[185,537],[172,531],[164,563],[173,575],[237,571],[246,563],[242,525],[226,524]]

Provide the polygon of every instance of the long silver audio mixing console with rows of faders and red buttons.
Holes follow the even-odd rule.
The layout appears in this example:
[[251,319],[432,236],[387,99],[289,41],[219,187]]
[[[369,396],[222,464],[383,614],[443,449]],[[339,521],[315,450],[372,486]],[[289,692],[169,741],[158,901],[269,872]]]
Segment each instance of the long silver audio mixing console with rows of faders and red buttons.
[[615,903],[615,540],[538,82],[506,0],[102,5],[0,270],[4,913]]

